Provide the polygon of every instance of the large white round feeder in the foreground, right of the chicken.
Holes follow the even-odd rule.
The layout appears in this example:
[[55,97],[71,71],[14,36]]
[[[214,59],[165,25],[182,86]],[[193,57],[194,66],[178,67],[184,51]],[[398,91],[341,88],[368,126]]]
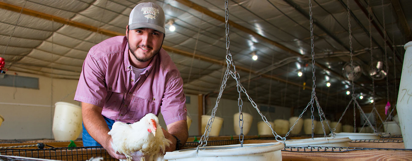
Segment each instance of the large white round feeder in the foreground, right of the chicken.
[[166,152],[168,161],[281,161],[281,142],[210,146]]

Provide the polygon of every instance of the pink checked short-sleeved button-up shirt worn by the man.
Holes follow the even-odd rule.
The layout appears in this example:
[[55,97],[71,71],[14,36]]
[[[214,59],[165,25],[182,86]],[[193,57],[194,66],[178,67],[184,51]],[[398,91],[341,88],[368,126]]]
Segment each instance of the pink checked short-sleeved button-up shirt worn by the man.
[[126,36],[95,45],[83,63],[75,100],[103,107],[102,115],[134,123],[147,113],[162,112],[166,124],[186,120],[183,80],[169,54],[162,48],[134,79]]

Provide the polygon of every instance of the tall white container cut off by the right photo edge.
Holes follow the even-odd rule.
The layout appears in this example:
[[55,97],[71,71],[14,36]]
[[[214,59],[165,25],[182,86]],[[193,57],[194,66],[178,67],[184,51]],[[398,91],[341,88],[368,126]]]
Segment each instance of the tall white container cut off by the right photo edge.
[[[404,46],[405,56],[403,58],[402,75],[400,76],[398,102],[396,110],[398,112],[400,129],[402,129],[402,138],[405,149],[412,149],[412,108],[409,104],[410,89],[412,89],[412,42]],[[406,96],[406,97],[404,97]]]

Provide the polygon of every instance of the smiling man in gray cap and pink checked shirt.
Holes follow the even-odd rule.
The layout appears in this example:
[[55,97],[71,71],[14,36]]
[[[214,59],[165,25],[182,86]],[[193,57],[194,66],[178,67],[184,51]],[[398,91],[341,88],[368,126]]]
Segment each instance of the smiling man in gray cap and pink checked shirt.
[[163,9],[152,2],[133,8],[126,36],[116,36],[92,47],[84,60],[75,100],[82,102],[83,145],[103,146],[117,159],[108,135],[115,121],[134,123],[147,113],[162,112],[172,141],[167,152],[187,140],[183,80],[162,49]]

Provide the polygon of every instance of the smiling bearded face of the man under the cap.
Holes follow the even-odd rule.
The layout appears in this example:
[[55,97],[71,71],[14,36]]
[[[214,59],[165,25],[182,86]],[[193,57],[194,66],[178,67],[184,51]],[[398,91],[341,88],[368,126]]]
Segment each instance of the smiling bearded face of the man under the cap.
[[164,34],[151,28],[138,28],[127,30],[126,37],[129,42],[129,55],[140,62],[150,61],[159,53],[163,44]]

